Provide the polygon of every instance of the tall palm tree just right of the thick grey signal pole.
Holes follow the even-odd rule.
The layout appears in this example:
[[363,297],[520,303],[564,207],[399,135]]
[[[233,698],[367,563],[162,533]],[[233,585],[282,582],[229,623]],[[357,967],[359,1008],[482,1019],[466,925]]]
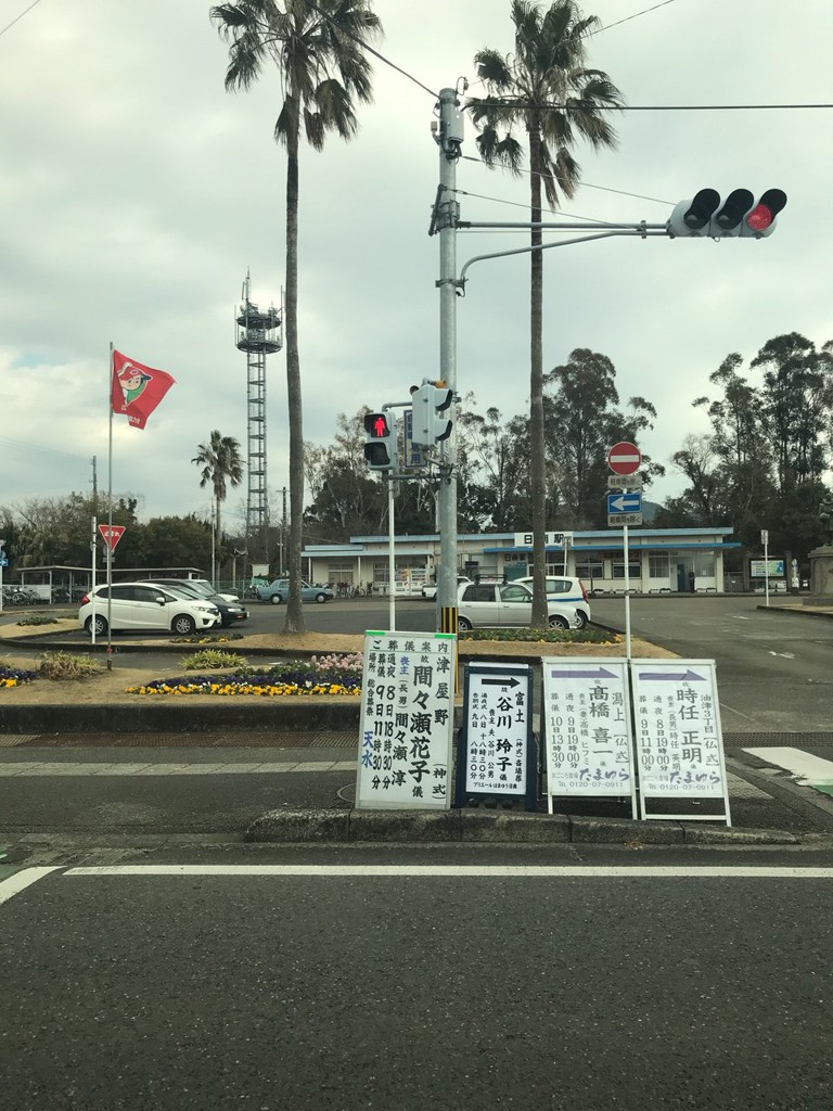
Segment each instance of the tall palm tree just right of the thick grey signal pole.
[[570,199],[581,168],[573,147],[584,139],[593,148],[615,147],[605,113],[622,104],[606,73],[584,66],[585,39],[599,23],[584,18],[573,0],[555,0],[546,11],[530,0],[512,0],[514,53],[481,50],[474,57],[486,96],[468,109],[480,129],[481,158],[489,166],[520,172],[523,147],[514,131],[526,132],[530,160],[530,487],[532,497],[533,624],[546,625],[545,482],[543,410],[543,259],[540,250],[542,191],[551,209]]

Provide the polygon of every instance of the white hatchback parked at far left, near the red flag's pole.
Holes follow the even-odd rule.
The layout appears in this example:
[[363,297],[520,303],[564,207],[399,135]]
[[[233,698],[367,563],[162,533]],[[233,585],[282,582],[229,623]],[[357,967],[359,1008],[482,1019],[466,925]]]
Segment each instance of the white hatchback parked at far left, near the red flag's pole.
[[180,637],[188,637],[220,624],[220,610],[207,600],[183,598],[150,582],[118,582],[110,588],[103,583],[84,594],[78,611],[78,623],[88,632],[92,631],[94,620],[97,637],[107,632],[108,590],[113,632],[170,629]]

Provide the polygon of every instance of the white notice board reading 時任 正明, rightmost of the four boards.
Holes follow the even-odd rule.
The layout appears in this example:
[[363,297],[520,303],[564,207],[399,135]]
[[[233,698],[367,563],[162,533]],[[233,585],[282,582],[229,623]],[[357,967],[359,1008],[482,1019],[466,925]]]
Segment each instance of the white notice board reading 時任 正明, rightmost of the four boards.
[[[731,824],[714,660],[632,660],[642,818]],[[648,813],[652,798],[722,799],[720,815]]]

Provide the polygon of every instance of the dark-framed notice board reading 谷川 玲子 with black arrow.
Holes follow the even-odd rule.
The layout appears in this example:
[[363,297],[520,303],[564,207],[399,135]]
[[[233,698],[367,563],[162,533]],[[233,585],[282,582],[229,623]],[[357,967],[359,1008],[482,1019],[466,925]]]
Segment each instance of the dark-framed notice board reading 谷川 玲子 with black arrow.
[[500,797],[538,810],[536,762],[531,665],[466,664],[456,804]]

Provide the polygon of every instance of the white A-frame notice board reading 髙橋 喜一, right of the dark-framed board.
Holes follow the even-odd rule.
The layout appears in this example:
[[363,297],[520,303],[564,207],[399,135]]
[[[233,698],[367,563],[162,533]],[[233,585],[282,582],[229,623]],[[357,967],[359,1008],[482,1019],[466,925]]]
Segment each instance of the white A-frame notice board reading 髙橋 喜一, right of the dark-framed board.
[[628,664],[624,660],[544,657],[541,723],[546,801],[630,798],[636,817]]

